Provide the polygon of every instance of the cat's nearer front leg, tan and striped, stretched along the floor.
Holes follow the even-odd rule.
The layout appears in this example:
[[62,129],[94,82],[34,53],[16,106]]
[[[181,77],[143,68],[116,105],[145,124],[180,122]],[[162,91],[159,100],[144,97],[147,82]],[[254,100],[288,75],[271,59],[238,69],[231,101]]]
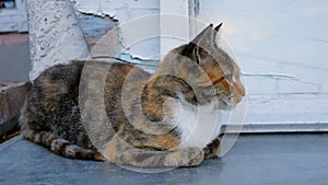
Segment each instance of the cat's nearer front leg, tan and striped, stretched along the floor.
[[109,162],[137,167],[196,166],[204,159],[203,150],[200,148],[155,151],[134,148],[117,137],[106,144],[102,153]]

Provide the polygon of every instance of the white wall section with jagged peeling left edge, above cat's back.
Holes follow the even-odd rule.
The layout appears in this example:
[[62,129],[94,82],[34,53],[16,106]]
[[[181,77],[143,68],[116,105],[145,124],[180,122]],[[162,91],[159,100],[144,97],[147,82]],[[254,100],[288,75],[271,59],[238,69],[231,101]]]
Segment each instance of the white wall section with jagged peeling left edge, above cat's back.
[[83,14],[109,16],[117,21],[119,39],[126,54],[144,60],[157,60],[159,0],[75,0],[75,9]]

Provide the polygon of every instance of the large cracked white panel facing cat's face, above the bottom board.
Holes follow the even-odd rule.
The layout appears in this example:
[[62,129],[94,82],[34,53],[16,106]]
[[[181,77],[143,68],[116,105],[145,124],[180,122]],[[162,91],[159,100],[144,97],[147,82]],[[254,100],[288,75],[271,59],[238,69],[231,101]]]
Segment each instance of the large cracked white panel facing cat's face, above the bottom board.
[[241,62],[248,94],[328,93],[327,1],[202,0],[203,22]]

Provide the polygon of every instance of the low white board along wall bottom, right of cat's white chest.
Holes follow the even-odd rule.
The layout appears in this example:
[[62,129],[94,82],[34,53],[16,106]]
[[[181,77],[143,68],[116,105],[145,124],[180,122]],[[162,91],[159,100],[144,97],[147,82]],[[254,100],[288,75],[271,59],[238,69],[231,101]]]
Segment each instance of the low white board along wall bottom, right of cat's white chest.
[[[327,132],[328,94],[251,95],[226,132]],[[235,116],[241,116],[235,114]]]

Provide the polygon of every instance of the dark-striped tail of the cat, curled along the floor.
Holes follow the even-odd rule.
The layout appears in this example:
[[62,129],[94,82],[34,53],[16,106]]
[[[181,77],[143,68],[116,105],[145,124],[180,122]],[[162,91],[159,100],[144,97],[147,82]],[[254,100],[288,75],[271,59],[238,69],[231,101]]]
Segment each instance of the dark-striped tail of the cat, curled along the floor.
[[105,158],[99,152],[72,144],[48,131],[23,130],[22,135],[25,139],[44,146],[54,153],[66,158],[105,161]]

